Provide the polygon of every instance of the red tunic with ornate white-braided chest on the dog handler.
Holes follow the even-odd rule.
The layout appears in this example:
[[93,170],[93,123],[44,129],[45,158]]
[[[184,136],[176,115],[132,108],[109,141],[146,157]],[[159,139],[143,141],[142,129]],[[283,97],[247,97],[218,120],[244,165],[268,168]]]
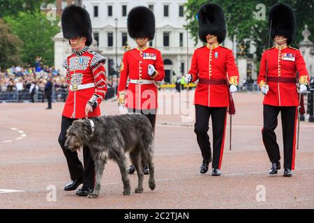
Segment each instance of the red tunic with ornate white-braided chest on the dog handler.
[[68,98],[62,116],[85,118],[87,102],[94,107],[88,116],[100,116],[98,105],[107,91],[105,57],[84,47],[68,56],[63,67],[66,68]]

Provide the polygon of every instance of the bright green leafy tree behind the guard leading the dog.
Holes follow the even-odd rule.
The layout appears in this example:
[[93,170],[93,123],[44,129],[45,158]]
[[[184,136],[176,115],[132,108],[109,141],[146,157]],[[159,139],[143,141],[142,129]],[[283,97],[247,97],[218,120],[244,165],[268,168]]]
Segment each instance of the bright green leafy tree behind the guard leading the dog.
[[57,22],[52,24],[45,13],[19,13],[5,17],[12,32],[23,41],[21,58],[24,63],[33,64],[36,56],[41,56],[44,64],[54,64],[54,42],[52,37],[59,32]]

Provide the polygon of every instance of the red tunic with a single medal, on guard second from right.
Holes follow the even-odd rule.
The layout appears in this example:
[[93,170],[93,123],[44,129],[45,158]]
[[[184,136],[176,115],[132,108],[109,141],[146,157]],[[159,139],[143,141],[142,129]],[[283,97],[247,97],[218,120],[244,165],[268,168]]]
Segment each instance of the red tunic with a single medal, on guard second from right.
[[[237,86],[239,79],[239,71],[232,50],[218,44],[195,50],[189,74],[193,76],[192,82],[200,78],[227,80],[229,77],[229,83]],[[229,107],[227,88],[227,84],[197,84],[194,104],[207,107]]]

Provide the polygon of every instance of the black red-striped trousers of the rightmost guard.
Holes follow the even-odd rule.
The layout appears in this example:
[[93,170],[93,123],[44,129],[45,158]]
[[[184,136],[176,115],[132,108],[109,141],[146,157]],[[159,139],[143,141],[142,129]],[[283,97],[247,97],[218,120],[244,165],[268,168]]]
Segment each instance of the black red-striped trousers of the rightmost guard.
[[279,112],[281,112],[281,123],[283,125],[284,168],[294,169],[297,107],[264,105],[264,127],[262,129],[264,146],[271,162],[281,160],[281,153],[275,133],[275,129],[278,125],[277,116]]

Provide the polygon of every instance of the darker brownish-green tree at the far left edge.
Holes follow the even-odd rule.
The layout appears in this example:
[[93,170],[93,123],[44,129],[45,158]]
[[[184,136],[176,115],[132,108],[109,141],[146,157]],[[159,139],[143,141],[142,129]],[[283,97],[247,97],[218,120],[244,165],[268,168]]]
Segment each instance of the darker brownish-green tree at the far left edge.
[[10,28],[0,19],[0,67],[7,68],[18,65],[20,60],[20,45],[22,41],[10,33]]

